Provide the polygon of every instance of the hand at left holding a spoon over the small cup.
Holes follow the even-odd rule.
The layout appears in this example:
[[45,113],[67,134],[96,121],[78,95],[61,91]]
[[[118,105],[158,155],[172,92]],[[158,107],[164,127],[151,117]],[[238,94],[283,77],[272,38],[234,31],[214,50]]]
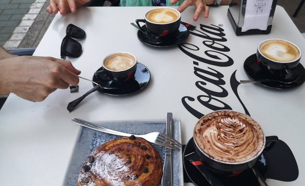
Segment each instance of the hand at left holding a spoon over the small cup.
[[18,56],[0,60],[0,94],[15,93],[43,101],[56,89],[77,85],[80,71],[70,61],[52,57]]

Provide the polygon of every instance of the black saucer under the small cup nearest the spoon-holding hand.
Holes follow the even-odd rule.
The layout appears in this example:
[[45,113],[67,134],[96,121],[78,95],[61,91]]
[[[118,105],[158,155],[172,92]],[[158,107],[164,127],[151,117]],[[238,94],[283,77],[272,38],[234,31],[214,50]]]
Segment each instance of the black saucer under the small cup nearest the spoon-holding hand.
[[[102,70],[102,67],[99,68],[96,72]],[[104,72],[100,72],[100,73],[104,73]],[[98,91],[100,93],[105,93],[108,95],[129,95],[132,93],[137,93],[141,90],[143,90],[145,87],[147,87],[149,81],[151,79],[151,73],[148,70],[148,68],[140,63],[137,62],[137,71],[136,74],[134,76],[134,78],[128,80],[128,82],[122,84],[122,85],[117,85],[116,83],[114,83],[113,81],[109,80],[109,81],[101,81],[99,78],[97,78],[97,76],[94,74],[92,81],[99,83],[101,86],[105,86],[105,87],[119,87],[120,89],[99,89]],[[92,83],[93,86],[95,87],[96,84]]]

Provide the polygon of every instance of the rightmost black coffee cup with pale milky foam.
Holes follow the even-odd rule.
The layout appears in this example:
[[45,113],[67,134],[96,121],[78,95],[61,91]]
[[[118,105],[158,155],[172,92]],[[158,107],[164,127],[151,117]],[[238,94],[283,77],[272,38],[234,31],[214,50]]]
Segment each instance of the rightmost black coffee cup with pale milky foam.
[[260,69],[274,78],[289,76],[300,59],[300,48],[283,39],[264,40],[257,48],[257,62]]

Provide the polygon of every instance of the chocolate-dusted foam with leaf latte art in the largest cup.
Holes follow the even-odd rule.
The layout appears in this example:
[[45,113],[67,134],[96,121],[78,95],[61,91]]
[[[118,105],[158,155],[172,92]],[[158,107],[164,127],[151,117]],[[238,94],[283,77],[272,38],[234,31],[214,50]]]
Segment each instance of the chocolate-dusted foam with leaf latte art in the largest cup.
[[194,128],[197,147],[218,161],[243,162],[261,152],[264,133],[251,117],[230,110],[202,117]]

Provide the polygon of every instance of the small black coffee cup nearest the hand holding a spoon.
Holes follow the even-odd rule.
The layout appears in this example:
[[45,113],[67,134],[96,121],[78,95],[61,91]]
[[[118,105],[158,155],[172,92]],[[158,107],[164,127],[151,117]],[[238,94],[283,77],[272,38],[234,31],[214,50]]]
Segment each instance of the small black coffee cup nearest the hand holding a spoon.
[[129,52],[116,52],[107,55],[102,70],[95,72],[101,81],[113,81],[117,84],[128,82],[137,70],[137,57]]

